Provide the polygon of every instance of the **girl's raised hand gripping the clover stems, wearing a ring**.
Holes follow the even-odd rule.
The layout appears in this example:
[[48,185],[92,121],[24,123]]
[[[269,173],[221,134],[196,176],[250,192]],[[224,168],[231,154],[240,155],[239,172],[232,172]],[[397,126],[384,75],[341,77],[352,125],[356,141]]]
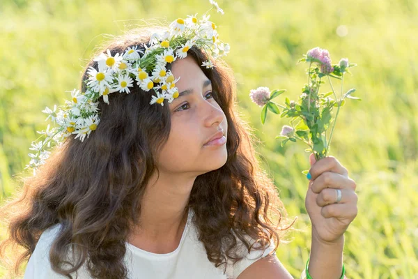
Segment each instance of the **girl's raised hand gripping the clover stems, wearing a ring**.
[[[333,156],[316,162],[311,153],[309,162],[311,179],[305,206],[312,223],[312,237],[323,243],[336,243],[357,216],[356,184]],[[341,201],[337,204],[336,189],[341,190]]]

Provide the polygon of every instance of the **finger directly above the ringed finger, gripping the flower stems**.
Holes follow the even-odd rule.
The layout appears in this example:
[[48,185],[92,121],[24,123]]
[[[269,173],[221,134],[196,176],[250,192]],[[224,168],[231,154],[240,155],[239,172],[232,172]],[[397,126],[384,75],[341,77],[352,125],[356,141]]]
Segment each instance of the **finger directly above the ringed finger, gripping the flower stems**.
[[336,172],[324,172],[311,184],[312,192],[317,194],[326,188],[355,190],[355,187],[356,185],[353,179],[342,174],[337,174]]

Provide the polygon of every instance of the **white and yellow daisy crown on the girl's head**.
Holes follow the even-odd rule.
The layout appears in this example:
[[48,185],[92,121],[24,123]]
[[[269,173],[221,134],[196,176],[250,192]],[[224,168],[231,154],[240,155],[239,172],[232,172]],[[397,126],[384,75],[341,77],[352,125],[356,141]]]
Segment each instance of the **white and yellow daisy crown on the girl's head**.
[[[215,1],[210,0],[210,3],[210,10],[216,8],[217,12],[224,14]],[[49,129],[48,124],[47,130],[37,131],[42,134],[40,137],[45,135],[45,140],[32,142],[29,149],[35,153],[29,153],[31,161],[25,169],[32,168],[33,175],[36,174],[38,167],[49,158],[51,152],[46,147],[50,147],[52,140],[61,146],[65,138],[75,134],[75,139],[83,142],[100,123],[98,99],[103,98],[104,103],[109,105],[109,94],[130,93],[134,82],[143,91],[150,92],[150,105],[163,106],[164,99],[171,103],[179,95],[176,82],[180,77],[175,79],[166,66],[176,59],[184,59],[189,48],[196,46],[206,52],[208,60],[203,61],[201,66],[215,67],[210,56],[213,59],[226,56],[229,44],[219,40],[217,26],[209,21],[208,12],[200,20],[196,18],[197,14],[174,20],[169,24],[168,31],[150,36],[150,46],[144,44],[144,51],[134,45],[113,56],[109,49],[96,56],[93,61],[97,61],[98,69],[88,67],[88,80],[84,81],[85,92],[78,89],[67,91],[71,93],[71,100],[65,100],[65,105],[59,106],[58,111],[56,105],[54,110],[49,107],[42,110],[48,114],[45,121],[51,119],[56,127]]]

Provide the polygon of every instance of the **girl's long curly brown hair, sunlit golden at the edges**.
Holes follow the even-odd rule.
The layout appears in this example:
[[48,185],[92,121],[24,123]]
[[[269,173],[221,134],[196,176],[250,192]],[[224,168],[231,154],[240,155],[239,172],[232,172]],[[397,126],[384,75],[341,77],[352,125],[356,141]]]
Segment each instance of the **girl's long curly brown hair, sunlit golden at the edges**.
[[[144,50],[150,35],[162,29],[132,29],[99,52],[109,49],[114,55],[134,45]],[[188,55],[199,65],[208,59],[196,47],[191,47]],[[233,252],[238,243],[235,237],[248,251],[251,247],[245,235],[257,239],[260,249],[269,246],[272,239],[275,251],[295,220],[286,218],[276,186],[258,167],[255,137],[236,109],[233,71],[222,60],[213,63],[215,68],[202,70],[212,81],[217,92],[214,98],[228,121],[228,158],[219,169],[197,176],[187,206],[194,211],[199,241],[217,267],[226,264],[226,257],[234,263],[242,259]],[[98,68],[93,59],[86,69],[88,66]],[[10,244],[24,248],[11,261],[15,274],[33,253],[40,234],[60,223],[61,230],[49,251],[54,271],[72,278],[70,273],[87,261],[93,278],[126,278],[125,241],[132,224],[138,224],[145,186],[150,175],[158,171],[153,155],[167,141],[171,121],[168,106],[149,105],[150,93],[137,84],[129,94],[109,95],[109,103],[100,98],[100,126],[88,140],[68,137],[56,146],[36,176],[22,179],[24,187],[1,208],[0,216],[8,223],[10,236],[1,243],[0,255],[5,255]],[[71,269],[64,270],[68,246],[79,257]]]

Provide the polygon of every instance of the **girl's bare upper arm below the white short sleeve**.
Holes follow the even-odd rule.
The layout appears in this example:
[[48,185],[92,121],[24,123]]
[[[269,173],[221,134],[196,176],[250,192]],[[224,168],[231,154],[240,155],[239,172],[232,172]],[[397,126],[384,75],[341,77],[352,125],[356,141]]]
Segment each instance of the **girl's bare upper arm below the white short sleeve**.
[[258,259],[247,267],[237,279],[293,279],[276,254]]

